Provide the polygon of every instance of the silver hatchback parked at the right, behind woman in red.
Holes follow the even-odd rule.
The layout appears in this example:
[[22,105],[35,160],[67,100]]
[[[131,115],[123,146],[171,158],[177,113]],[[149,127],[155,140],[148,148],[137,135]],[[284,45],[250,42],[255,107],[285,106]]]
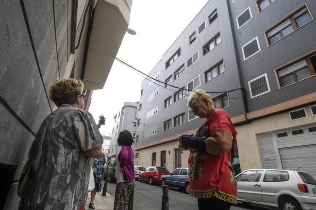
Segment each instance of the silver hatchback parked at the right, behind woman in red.
[[237,200],[281,210],[316,210],[316,180],[292,170],[250,169],[236,176]]

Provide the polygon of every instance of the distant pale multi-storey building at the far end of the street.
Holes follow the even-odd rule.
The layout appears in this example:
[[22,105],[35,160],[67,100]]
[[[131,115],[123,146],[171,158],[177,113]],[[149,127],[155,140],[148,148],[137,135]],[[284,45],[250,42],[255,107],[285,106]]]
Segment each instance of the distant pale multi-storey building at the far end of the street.
[[121,151],[121,147],[117,145],[118,134],[123,130],[128,130],[136,140],[136,121],[138,113],[138,102],[125,102],[122,108],[113,117],[114,124],[109,145],[107,160],[115,158]]

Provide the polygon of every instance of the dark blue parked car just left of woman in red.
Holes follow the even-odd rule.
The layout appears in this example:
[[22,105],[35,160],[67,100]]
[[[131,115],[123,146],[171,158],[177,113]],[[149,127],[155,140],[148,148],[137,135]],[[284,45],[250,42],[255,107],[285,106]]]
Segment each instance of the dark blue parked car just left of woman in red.
[[188,168],[176,168],[169,175],[161,176],[161,187],[163,187],[164,185],[168,185],[170,187],[180,188],[184,190],[186,193],[190,193],[188,175]]

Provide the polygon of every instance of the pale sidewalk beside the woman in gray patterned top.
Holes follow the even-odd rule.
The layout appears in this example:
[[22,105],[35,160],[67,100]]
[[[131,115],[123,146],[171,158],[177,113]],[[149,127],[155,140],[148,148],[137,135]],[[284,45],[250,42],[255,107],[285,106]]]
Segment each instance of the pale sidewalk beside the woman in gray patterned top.
[[[92,210],[88,208],[89,203],[90,203],[90,193],[88,195],[87,202],[85,203],[86,210]],[[96,197],[94,198],[94,205],[96,207],[95,210],[113,210],[114,197],[110,195],[109,193],[106,193],[106,196],[104,196],[102,195],[102,192],[97,192]]]

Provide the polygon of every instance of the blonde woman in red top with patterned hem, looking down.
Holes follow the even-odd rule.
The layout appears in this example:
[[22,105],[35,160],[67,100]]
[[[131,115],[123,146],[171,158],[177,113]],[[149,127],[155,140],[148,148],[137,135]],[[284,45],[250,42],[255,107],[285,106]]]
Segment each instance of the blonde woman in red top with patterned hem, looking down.
[[[232,155],[236,145],[236,130],[228,113],[216,109],[212,98],[196,89],[188,99],[195,115],[206,118],[194,136],[209,136],[190,150],[188,158],[190,195],[198,198],[199,210],[229,210],[236,204],[237,182],[233,173]],[[205,127],[206,126],[206,127]],[[179,137],[179,147],[182,146]]]

